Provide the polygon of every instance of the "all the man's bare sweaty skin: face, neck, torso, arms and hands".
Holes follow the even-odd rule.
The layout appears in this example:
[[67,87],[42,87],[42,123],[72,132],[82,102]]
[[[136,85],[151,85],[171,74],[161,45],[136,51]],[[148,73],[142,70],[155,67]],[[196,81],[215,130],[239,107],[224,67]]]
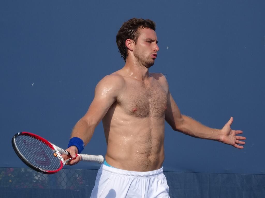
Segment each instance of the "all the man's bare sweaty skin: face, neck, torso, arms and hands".
[[[237,136],[242,131],[231,129],[232,117],[222,129],[212,129],[180,114],[166,78],[160,73],[149,73],[159,50],[155,31],[147,28],[138,31],[136,43],[126,40],[125,66],[97,84],[89,110],[77,122],[71,137],[81,138],[86,145],[102,120],[107,142],[106,161],[129,171],[162,167],[165,121],[175,131],[243,148],[238,144],[245,144],[240,140],[246,138]],[[67,150],[75,157],[75,146]],[[78,156],[68,165],[79,161]]]

